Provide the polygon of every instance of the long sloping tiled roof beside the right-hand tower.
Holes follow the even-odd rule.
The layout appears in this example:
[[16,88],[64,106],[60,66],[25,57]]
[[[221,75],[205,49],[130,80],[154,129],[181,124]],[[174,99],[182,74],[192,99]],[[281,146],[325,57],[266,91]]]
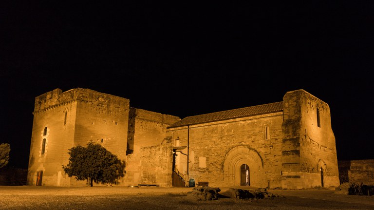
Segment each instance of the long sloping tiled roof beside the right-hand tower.
[[280,112],[283,110],[283,101],[262,104],[240,109],[227,110],[222,112],[209,113],[204,115],[187,116],[180,121],[170,125],[168,128],[175,128],[186,125],[195,125],[206,122],[214,122],[225,119],[233,119],[251,115],[262,115],[266,113]]

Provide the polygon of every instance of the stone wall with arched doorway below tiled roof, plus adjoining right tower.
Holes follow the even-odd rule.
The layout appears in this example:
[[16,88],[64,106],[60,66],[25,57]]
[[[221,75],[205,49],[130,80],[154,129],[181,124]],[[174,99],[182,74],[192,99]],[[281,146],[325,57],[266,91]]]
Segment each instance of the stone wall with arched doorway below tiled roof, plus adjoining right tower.
[[304,90],[287,92],[283,111],[277,113],[171,127],[168,133],[177,154],[176,171],[187,182],[238,186],[240,167],[246,164],[254,187],[339,185],[329,106]]

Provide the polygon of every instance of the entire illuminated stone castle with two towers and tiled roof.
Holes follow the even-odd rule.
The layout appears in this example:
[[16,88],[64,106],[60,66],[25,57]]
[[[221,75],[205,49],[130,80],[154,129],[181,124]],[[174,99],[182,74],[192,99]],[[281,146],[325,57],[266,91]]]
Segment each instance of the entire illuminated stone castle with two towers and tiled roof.
[[304,90],[280,102],[180,119],[90,89],[55,89],[36,97],[33,114],[28,185],[86,186],[61,166],[68,149],[88,141],[126,161],[123,186],[339,185],[330,108]]

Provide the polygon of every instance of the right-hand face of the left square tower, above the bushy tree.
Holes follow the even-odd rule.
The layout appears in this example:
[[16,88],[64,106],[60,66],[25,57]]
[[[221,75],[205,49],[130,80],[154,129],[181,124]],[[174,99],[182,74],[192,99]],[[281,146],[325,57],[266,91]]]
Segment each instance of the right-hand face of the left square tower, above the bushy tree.
[[93,141],[125,160],[130,100],[87,89],[78,95],[75,145]]

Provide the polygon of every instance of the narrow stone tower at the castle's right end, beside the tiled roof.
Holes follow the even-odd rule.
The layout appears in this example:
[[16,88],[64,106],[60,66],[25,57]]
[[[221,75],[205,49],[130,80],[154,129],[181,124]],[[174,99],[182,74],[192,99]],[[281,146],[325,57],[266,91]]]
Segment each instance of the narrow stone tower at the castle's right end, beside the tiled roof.
[[329,106],[303,90],[287,92],[283,106],[282,187],[338,186]]

